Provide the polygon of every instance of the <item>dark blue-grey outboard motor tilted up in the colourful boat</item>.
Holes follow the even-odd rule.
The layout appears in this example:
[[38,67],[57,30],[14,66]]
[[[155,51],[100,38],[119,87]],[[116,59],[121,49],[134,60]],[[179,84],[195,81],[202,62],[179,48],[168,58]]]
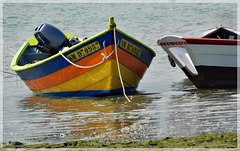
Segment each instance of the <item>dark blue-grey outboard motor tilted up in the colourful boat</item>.
[[50,24],[42,24],[35,31],[34,36],[38,40],[38,50],[49,55],[58,53],[65,46],[71,47],[80,42],[74,37],[67,39],[63,32]]

